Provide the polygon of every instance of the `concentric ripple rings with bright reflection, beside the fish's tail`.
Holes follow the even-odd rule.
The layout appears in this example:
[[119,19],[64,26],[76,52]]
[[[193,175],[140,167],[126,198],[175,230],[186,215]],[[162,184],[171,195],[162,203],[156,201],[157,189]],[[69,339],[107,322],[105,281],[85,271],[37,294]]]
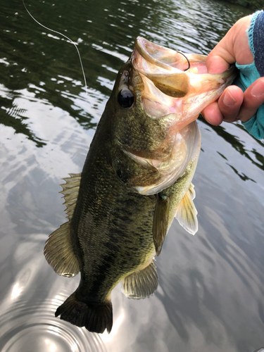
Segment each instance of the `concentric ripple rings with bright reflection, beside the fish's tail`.
[[37,299],[34,304],[18,300],[11,306],[4,302],[0,316],[1,352],[104,352],[97,334],[54,317],[62,299]]

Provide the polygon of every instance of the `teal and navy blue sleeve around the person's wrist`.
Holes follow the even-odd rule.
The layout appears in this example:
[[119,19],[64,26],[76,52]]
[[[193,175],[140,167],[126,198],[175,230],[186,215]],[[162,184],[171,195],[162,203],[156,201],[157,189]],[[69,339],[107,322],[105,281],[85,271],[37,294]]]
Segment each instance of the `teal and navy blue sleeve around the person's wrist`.
[[[251,19],[251,25],[248,32],[249,47],[254,57],[250,65],[239,65],[240,71],[237,84],[243,92],[258,78],[264,76],[264,11],[257,11]],[[253,137],[258,139],[264,138],[264,104],[262,104],[256,114],[249,121],[242,122],[244,127]]]

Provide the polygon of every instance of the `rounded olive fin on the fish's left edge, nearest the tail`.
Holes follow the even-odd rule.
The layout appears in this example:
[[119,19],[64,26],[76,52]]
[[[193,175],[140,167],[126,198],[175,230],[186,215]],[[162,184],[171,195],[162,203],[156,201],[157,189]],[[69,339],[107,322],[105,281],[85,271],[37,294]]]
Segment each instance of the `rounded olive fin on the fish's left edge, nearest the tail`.
[[44,256],[58,275],[73,277],[80,272],[80,265],[70,241],[70,222],[65,222],[49,235],[44,247]]

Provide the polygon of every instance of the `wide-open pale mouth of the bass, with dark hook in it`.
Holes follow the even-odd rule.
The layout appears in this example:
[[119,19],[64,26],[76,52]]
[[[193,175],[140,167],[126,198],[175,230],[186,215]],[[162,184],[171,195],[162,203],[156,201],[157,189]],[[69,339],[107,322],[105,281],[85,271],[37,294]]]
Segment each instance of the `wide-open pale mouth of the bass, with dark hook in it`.
[[[182,55],[184,54],[184,55]],[[182,98],[193,92],[210,92],[234,77],[236,68],[230,66],[221,74],[208,73],[206,56],[185,54],[137,37],[131,57],[134,70],[149,79],[167,96]]]

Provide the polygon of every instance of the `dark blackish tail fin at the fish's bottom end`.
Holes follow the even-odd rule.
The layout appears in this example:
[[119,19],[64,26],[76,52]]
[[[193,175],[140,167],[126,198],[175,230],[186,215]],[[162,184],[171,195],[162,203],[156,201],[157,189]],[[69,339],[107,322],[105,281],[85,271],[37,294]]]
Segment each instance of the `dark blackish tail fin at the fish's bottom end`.
[[75,292],[58,307],[55,316],[70,322],[77,327],[86,327],[89,332],[111,332],[113,325],[113,308],[111,301],[88,302],[78,301]]

